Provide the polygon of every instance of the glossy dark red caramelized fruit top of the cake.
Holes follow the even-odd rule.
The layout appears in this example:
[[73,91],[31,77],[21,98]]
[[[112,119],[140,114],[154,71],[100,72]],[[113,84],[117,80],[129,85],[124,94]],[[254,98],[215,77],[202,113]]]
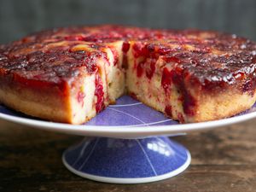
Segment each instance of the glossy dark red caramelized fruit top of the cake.
[[116,41],[123,41],[124,52],[132,43],[134,56],[144,58],[141,64],[151,63],[148,79],[154,61],[161,59],[164,75],[177,84],[187,79],[212,90],[241,81],[243,91],[255,87],[256,44],[236,35],[198,30],[79,26],[38,32],[0,45],[0,71],[45,82],[68,81],[81,71],[96,73],[97,60],[108,60],[104,49]]

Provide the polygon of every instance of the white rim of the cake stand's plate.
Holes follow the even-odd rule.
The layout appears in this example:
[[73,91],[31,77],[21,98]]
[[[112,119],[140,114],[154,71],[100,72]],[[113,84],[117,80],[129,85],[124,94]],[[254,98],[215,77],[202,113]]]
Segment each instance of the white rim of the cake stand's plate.
[[16,117],[11,114],[1,113],[0,119],[5,119],[21,125],[37,127],[48,131],[61,131],[74,135],[100,136],[100,137],[148,137],[156,135],[172,135],[190,131],[200,131],[233,125],[256,118],[256,112],[241,114],[227,119],[218,119],[200,123],[177,124],[177,125],[150,125],[150,126],[107,126],[107,125],[69,125],[55,123],[39,119]]

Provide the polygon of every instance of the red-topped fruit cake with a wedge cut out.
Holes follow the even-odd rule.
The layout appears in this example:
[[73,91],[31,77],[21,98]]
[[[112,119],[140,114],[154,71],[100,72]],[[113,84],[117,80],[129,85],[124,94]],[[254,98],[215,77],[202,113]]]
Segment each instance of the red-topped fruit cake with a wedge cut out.
[[251,108],[256,44],[200,30],[78,26],[0,45],[0,102],[83,124],[128,94],[181,123]]

